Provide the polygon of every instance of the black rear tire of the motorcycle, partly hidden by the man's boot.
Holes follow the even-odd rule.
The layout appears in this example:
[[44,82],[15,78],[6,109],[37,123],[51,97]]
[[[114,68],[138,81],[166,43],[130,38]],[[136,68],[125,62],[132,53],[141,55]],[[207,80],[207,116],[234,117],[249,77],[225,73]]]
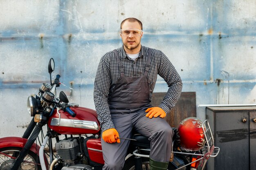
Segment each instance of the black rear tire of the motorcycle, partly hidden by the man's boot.
[[[122,170],[135,170],[134,166],[134,155],[130,156],[128,159],[126,159],[124,163],[124,168]],[[149,158],[141,157],[142,159],[142,170],[149,170]],[[168,170],[175,170],[177,169],[178,165],[174,165],[173,162],[169,162]],[[182,168],[181,170],[188,170],[186,167]]]

